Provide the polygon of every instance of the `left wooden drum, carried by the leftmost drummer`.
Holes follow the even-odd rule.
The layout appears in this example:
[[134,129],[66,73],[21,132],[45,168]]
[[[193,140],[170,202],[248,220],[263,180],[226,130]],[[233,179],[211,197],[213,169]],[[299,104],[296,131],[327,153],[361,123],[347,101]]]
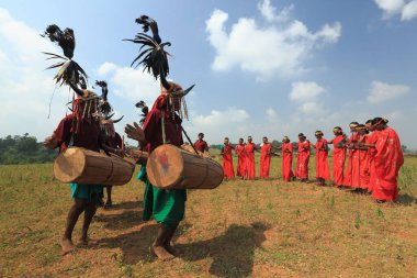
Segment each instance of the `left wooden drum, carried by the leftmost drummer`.
[[123,186],[135,165],[116,156],[106,156],[81,147],[69,147],[54,162],[55,178],[63,182]]

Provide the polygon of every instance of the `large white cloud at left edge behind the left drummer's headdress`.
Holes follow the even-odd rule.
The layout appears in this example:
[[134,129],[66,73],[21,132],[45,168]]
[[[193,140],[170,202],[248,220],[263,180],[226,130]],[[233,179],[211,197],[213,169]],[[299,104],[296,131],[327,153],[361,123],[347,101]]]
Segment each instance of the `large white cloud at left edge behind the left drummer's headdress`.
[[69,93],[63,88],[55,91],[47,119],[55,73],[43,70],[50,60],[41,52],[61,52],[40,33],[0,8],[0,136],[27,132],[43,140],[65,115]]

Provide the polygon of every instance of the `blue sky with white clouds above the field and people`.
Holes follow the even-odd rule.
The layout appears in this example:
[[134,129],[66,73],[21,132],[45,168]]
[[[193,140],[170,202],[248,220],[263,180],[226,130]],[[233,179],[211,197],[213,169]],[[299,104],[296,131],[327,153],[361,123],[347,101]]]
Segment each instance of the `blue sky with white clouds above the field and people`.
[[74,59],[90,84],[105,79],[110,101],[127,122],[134,103],[149,105],[159,86],[129,68],[138,47],[123,38],[148,14],[168,49],[170,78],[183,87],[192,137],[210,144],[252,135],[314,141],[322,130],[386,116],[402,143],[417,148],[417,0],[0,1],[0,136],[42,140],[65,115],[67,88],[55,91],[41,51],[60,48],[38,36],[46,25],[75,30]]

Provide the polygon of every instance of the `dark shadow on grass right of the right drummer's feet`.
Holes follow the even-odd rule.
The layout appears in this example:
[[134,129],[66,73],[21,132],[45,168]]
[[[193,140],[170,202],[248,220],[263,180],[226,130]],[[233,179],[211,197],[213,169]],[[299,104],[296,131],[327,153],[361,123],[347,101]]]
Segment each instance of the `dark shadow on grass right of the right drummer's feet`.
[[252,223],[251,226],[230,225],[217,237],[189,244],[178,244],[181,258],[189,262],[213,258],[210,274],[216,277],[247,277],[252,273],[255,251],[266,240],[264,223]]

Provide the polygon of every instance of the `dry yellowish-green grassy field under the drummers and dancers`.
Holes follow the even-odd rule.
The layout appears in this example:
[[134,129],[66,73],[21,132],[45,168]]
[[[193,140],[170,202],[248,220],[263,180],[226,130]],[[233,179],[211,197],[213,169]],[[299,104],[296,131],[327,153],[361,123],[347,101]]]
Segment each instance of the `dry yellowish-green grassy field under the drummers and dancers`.
[[280,173],[274,157],[270,180],[189,191],[181,256],[161,263],[149,251],[157,225],[140,219],[142,182],[114,188],[115,205],[90,229],[98,242],[63,257],[69,187],[52,165],[0,166],[0,277],[417,277],[417,157],[406,157],[395,203]]

